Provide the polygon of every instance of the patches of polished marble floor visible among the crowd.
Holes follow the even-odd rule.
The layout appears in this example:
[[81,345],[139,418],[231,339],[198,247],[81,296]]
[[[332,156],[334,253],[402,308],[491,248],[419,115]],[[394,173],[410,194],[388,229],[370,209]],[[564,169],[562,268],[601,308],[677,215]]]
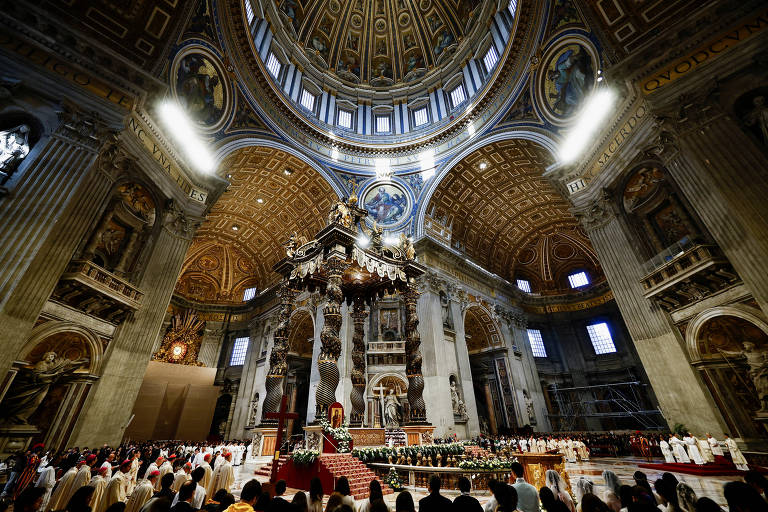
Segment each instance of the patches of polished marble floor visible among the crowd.
[[[240,494],[240,489],[242,488],[243,483],[247,482],[253,477],[253,472],[261,467],[262,465],[266,464],[268,462],[268,458],[265,458],[263,462],[255,462],[255,463],[248,463],[241,466],[235,467],[235,485],[232,489],[232,493],[235,496],[238,496]],[[591,480],[599,494],[602,494],[603,492],[603,485],[605,482],[602,478],[602,473],[606,469],[610,469],[613,472],[618,475],[618,477],[621,479],[622,483],[627,483],[631,485],[633,483],[632,480],[632,474],[638,470],[637,465],[645,462],[643,459],[637,459],[637,458],[631,458],[631,457],[622,457],[622,458],[598,458],[593,459],[589,462],[577,462],[577,463],[568,463],[566,464],[566,470],[568,471],[568,475],[570,476],[571,482],[574,482],[579,479],[579,477],[586,477],[589,480]],[[653,482],[656,481],[656,479],[661,478],[662,472],[660,471],[652,471],[649,469],[642,469],[642,471],[648,475],[648,480],[651,482],[651,485],[653,485]],[[694,475],[686,475],[683,473],[675,473],[675,476],[677,479],[681,482],[685,482],[686,484],[690,485],[693,490],[696,492],[696,495],[698,497],[704,497],[707,496],[709,498],[712,498],[715,502],[717,502],[723,509],[727,510],[725,498],[723,497],[723,485],[727,482],[730,482],[732,480],[739,480],[739,477],[733,476],[733,477],[699,477]],[[258,477],[260,481],[267,481],[266,478]],[[426,491],[421,488],[409,488],[408,489],[411,494],[413,495],[414,501],[418,501],[419,499],[426,496]],[[288,498],[293,497],[293,494],[296,492],[295,489],[289,489],[286,493],[286,496]],[[326,491],[327,494],[328,491]],[[458,492],[456,491],[445,491],[442,494],[445,496],[453,499],[453,497],[458,495]],[[474,493],[473,493],[474,494]],[[488,498],[488,493],[479,492],[477,494],[474,494],[475,497],[480,501],[481,504],[484,504]],[[327,496],[326,496],[327,499]],[[394,503],[396,499],[396,494],[390,494],[388,496],[385,496],[385,501],[394,508]]]

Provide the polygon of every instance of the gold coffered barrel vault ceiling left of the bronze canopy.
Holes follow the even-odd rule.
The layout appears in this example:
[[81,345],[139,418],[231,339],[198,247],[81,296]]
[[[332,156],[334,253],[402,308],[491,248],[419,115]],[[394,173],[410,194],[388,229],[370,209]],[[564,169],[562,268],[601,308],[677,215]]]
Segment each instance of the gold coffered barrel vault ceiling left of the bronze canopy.
[[[317,171],[278,149],[239,149],[220,168],[231,175],[231,185],[211,209],[187,253],[183,272],[194,269],[194,273],[183,274],[177,286],[178,291],[201,302],[241,301],[245,285],[230,283],[218,290],[188,285],[185,276],[202,280],[200,273],[206,273],[205,265],[211,267],[208,274],[220,272],[213,269],[213,261],[205,260],[202,267],[197,263],[205,253],[200,247],[227,247],[227,252],[234,255],[230,259],[236,268],[247,269],[247,284],[263,289],[278,278],[272,265],[285,255],[282,243],[288,235],[296,232],[311,240],[325,225],[337,197]],[[205,280],[213,281],[222,286],[221,279]],[[190,289],[205,292],[196,294]],[[218,298],[211,301],[213,296]]]

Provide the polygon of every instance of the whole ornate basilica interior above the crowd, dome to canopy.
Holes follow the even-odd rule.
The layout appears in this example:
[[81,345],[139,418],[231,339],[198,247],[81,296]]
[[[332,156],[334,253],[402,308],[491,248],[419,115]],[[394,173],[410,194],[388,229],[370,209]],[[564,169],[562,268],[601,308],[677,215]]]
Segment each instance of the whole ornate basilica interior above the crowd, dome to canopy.
[[338,402],[768,447],[763,2],[0,19],[0,453],[251,439],[281,397],[298,438]]

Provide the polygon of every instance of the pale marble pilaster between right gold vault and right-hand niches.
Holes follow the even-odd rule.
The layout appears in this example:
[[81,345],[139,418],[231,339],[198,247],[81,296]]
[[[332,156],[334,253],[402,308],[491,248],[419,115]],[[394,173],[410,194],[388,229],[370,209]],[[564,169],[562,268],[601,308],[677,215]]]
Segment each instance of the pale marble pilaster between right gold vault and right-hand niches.
[[597,251],[667,423],[670,427],[684,423],[692,432],[721,435],[722,418],[688,363],[679,331],[664,311],[643,296],[641,262],[611,198],[604,195],[577,215]]

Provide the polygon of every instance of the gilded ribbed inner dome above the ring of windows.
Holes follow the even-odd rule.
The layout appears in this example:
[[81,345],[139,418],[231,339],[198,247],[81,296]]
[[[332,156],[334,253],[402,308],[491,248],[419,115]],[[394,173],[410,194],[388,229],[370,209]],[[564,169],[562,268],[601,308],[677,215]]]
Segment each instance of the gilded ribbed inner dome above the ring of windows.
[[485,25],[479,0],[275,1],[311,60],[346,82],[375,87],[417,80]]

